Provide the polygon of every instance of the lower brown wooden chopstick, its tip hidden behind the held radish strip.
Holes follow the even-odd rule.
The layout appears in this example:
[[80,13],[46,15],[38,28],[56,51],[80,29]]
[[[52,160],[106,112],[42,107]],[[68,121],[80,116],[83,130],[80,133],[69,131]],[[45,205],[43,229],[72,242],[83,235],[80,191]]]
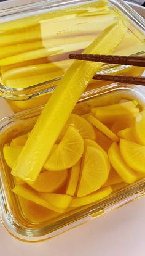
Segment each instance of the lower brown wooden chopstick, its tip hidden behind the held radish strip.
[[145,77],[142,76],[123,76],[123,75],[95,75],[95,80],[114,81],[119,83],[130,83],[136,85],[145,85]]

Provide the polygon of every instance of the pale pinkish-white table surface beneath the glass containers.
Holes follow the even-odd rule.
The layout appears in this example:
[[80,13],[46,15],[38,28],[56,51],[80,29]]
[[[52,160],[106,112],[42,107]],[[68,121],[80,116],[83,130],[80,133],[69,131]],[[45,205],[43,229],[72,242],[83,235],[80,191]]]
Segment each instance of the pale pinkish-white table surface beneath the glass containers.
[[[0,99],[0,118],[10,114],[12,110]],[[144,256],[144,229],[145,197],[38,244],[18,241],[0,224],[0,255]]]

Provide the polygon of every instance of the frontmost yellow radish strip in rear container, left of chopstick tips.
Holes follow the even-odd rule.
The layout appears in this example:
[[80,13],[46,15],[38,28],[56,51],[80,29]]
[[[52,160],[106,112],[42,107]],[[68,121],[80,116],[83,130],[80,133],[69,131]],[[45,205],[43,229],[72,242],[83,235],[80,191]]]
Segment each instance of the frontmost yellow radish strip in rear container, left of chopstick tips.
[[64,75],[69,60],[14,68],[2,74],[2,82],[9,88],[26,88]]

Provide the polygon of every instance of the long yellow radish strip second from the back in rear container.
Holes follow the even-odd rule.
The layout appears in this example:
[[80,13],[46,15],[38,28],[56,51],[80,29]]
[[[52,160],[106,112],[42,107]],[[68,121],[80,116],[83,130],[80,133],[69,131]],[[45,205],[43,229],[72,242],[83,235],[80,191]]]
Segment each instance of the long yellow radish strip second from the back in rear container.
[[[45,41],[59,37],[75,37],[79,35],[93,34],[98,35],[106,28],[106,22],[111,25],[114,22],[114,14],[108,14],[102,19],[100,16],[95,17],[76,17],[75,14],[61,17],[59,20],[44,20],[35,27],[15,33],[1,34],[0,47],[10,46],[31,41]],[[95,27],[100,22],[100,26]]]

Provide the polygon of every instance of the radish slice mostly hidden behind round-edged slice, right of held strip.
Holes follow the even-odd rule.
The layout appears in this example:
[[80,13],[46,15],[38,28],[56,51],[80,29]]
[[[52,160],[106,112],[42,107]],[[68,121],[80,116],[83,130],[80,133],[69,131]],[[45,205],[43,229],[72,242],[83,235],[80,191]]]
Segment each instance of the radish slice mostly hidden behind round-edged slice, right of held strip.
[[84,138],[84,139],[95,139],[96,138],[95,130],[91,123],[89,123],[87,120],[80,117],[79,115],[71,114],[68,118],[68,121],[66,122],[65,127],[61,131],[61,134],[59,136],[60,140],[65,135],[66,130],[68,130],[69,125],[74,126],[79,131],[79,133],[82,135],[82,138]]

